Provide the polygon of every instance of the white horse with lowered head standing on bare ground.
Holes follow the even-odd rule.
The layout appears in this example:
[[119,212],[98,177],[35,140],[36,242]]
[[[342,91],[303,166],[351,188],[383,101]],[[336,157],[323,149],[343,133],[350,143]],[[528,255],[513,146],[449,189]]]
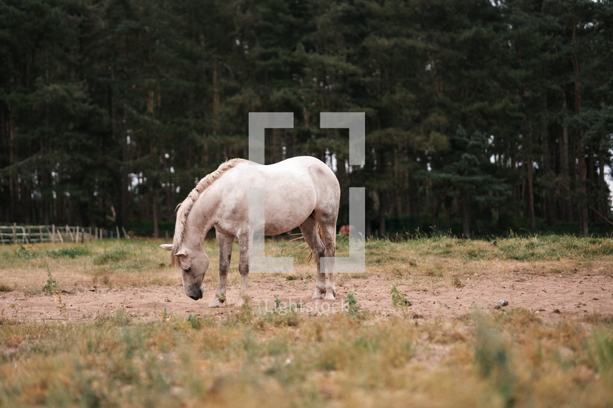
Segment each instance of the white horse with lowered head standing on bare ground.
[[324,262],[322,267],[320,258],[335,256],[340,186],[326,164],[309,156],[267,166],[232,159],[198,182],[178,206],[172,245],[160,245],[172,250],[171,262],[180,270],[185,294],[194,300],[202,299],[202,279],[209,267],[209,257],[202,250],[202,244],[207,232],[215,227],[219,246],[219,282],[209,307],[218,308],[225,301],[235,238],[238,238],[240,249],[240,298],[237,305],[249,299],[250,238],[253,241],[253,231],[249,230],[249,187],[264,188],[265,235],[278,235],[300,227],[317,264],[317,285],[312,299],[333,300],[336,294],[333,260]]

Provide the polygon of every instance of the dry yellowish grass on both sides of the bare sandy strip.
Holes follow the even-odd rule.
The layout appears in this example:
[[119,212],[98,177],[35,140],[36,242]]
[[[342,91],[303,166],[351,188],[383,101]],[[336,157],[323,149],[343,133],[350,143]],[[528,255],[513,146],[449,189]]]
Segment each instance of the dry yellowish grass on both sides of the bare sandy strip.
[[[339,243],[341,254],[345,244]],[[216,253],[214,243],[206,245]],[[267,244],[267,255],[295,256],[294,246]],[[610,259],[612,247],[610,240],[572,237],[499,239],[497,246],[444,237],[368,241],[366,275],[428,287],[510,265],[563,275],[587,264],[592,274],[610,275],[599,263]],[[215,261],[211,256],[212,270]],[[48,272],[65,290],[176,282],[167,252],[148,242],[6,246],[0,262],[0,283],[30,291],[42,290]],[[312,271],[306,259],[297,261],[295,275]],[[205,285],[215,286],[216,274],[207,275]],[[231,280],[237,275],[231,272]],[[123,310],[83,323],[1,316],[0,407],[607,407],[613,401],[612,316],[594,312],[552,324],[512,308],[454,320],[404,317],[276,314],[249,305],[149,322]]]

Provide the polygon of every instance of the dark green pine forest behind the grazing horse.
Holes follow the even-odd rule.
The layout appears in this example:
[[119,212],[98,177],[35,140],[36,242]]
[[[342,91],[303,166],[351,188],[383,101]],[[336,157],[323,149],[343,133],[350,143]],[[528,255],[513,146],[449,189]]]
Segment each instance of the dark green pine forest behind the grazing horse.
[[[174,230],[229,158],[313,155],[366,233],[610,235],[613,1],[0,1],[0,222]],[[364,112],[366,160],[320,112]]]

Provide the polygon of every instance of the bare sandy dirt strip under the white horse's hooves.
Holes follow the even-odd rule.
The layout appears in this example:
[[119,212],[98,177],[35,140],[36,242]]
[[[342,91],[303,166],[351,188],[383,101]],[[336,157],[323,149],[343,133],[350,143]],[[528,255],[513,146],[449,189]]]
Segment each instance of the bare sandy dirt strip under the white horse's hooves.
[[[253,275],[252,275],[253,276]],[[148,286],[145,288],[107,288],[104,286],[75,286],[61,294],[59,301],[45,294],[27,291],[0,293],[0,318],[22,321],[90,321],[97,316],[114,314],[124,310],[129,316],[144,321],[162,319],[164,316],[189,316],[189,314],[214,314],[223,316],[237,311],[238,279],[229,284],[227,305],[224,308],[207,308],[214,296],[216,279],[205,286],[205,297],[200,301],[183,294],[177,277],[176,286]],[[391,301],[392,283],[405,295],[411,306],[406,311],[395,310]],[[539,270],[515,269],[503,273],[473,274],[461,281],[450,279],[415,277],[394,281],[389,275],[367,272],[365,275],[340,276],[336,301],[311,301],[315,280],[288,281],[280,275],[250,277],[249,294],[254,308],[275,312],[275,297],[288,308],[309,314],[346,312],[346,297],[355,290],[362,310],[375,316],[402,314],[406,319],[457,319],[474,310],[497,313],[494,305],[506,300],[510,308],[526,308],[538,314],[543,321],[555,323],[561,319],[583,319],[593,313],[613,315],[613,278],[610,272],[590,274],[589,271],[539,272]],[[283,312],[282,310],[276,310]]]

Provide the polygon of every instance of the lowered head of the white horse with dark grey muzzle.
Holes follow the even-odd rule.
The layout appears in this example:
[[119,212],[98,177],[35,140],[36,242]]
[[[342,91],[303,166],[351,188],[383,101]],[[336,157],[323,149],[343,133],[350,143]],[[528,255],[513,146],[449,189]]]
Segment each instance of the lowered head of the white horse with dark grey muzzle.
[[[160,245],[172,250],[172,244]],[[183,281],[183,290],[191,299],[202,299],[202,279],[209,268],[209,257],[204,251],[181,248],[173,255],[173,264],[178,266]]]

